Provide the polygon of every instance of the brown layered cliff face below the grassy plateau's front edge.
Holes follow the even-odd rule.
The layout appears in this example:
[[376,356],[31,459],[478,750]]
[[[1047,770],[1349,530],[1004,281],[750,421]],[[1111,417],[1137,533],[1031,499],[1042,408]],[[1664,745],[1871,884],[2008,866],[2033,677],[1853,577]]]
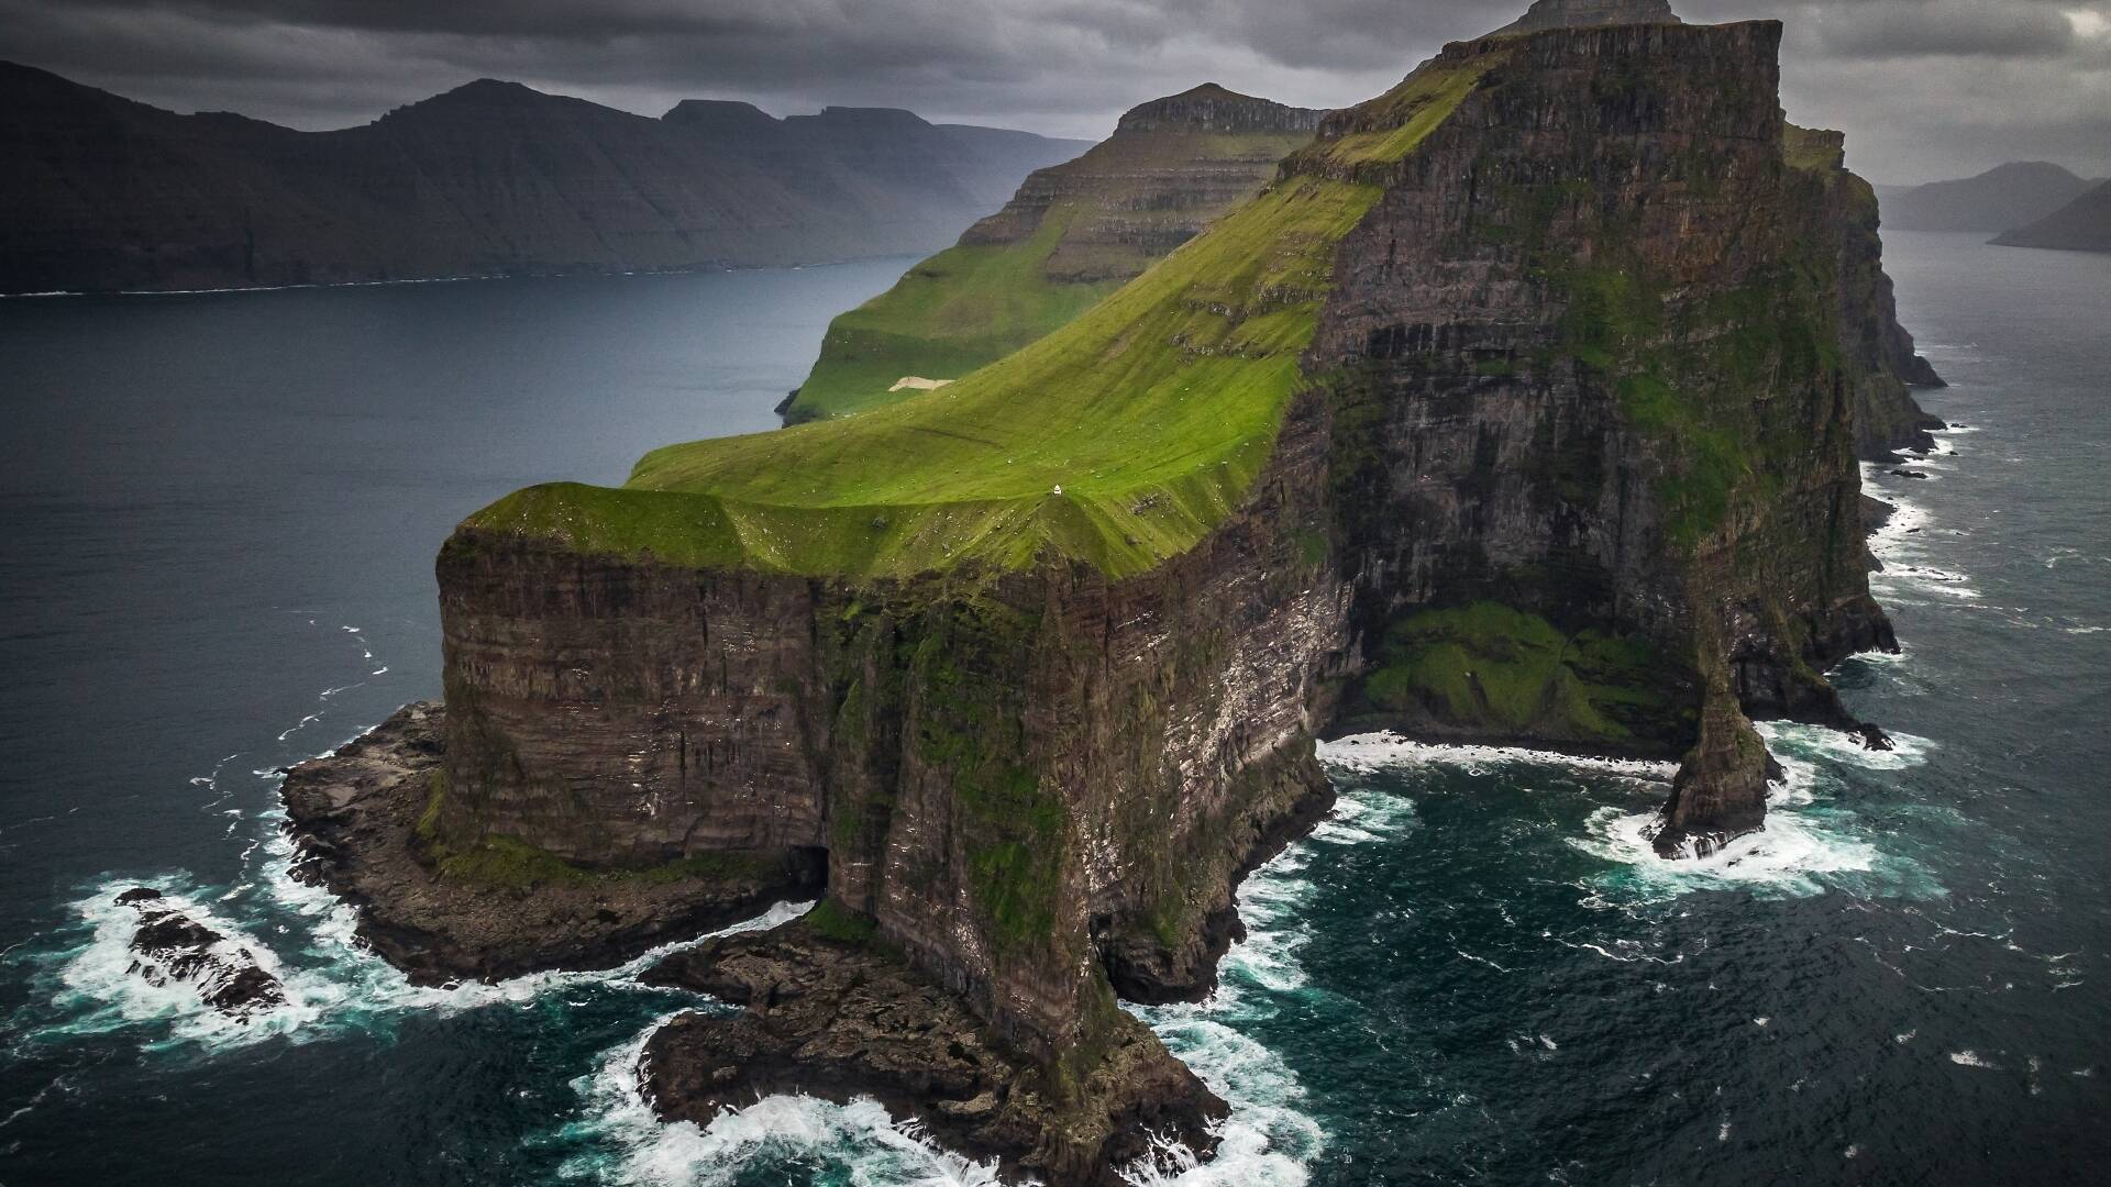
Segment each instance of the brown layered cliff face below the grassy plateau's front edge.
[[441,834],[610,866],[828,847],[830,898],[1009,1041],[1089,1045],[1110,978],[1212,982],[1235,874],[1328,803],[1324,427],[1140,581],[718,574],[464,528]]

